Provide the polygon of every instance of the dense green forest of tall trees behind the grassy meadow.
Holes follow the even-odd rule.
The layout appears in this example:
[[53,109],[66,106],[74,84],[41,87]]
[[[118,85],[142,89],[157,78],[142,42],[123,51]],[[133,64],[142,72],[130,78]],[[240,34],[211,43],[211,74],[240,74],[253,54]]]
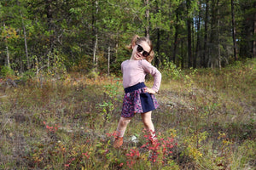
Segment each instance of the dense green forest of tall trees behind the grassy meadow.
[[135,34],[154,42],[156,66],[256,57],[256,0],[1,0],[0,14],[2,71],[117,74]]

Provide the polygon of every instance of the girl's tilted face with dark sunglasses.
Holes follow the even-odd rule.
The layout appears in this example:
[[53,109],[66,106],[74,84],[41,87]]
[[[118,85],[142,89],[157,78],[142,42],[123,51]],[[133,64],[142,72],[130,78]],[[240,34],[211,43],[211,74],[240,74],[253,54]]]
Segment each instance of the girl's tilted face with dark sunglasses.
[[[139,47],[140,46],[140,47]],[[138,48],[139,47],[139,48]],[[140,49],[138,52],[137,49]],[[133,47],[132,54],[131,54],[131,60],[141,60],[146,59],[143,54],[147,54],[150,51],[150,47],[147,42],[137,42],[137,44]]]

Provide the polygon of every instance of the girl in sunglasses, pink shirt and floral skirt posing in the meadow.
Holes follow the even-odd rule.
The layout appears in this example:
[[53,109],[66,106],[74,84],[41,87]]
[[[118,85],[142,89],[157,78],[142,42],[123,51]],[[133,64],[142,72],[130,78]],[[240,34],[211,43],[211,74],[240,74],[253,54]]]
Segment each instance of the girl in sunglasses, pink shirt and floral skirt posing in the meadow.
[[[125,97],[113,143],[114,148],[119,148],[123,144],[125,129],[136,113],[141,113],[144,126],[151,132],[152,139],[154,139],[154,124],[151,120],[151,113],[158,107],[154,94],[160,88],[161,74],[150,64],[154,58],[154,51],[152,50],[152,42],[148,38],[133,37],[129,48],[132,49],[131,59],[125,60],[121,64]],[[152,88],[147,88],[144,84],[147,73],[154,77]]]

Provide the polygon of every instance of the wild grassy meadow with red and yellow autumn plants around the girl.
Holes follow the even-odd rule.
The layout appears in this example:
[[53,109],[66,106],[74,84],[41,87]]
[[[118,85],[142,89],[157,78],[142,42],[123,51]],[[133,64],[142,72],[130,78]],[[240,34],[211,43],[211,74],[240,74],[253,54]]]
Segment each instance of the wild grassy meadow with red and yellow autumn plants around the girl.
[[253,169],[255,69],[254,59],[222,70],[161,71],[158,142],[148,144],[135,116],[120,150],[113,149],[119,78],[70,73],[2,85],[0,169]]

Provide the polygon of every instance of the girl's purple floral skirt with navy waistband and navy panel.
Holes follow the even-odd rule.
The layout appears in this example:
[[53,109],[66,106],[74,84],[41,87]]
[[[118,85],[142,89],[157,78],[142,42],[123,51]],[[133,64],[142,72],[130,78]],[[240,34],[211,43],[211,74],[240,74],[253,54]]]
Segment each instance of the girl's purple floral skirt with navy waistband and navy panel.
[[144,82],[125,88],[122,117],[132,117],[136,113],[145,113],[155,110],[159,105],[154,94],[145,93]]

